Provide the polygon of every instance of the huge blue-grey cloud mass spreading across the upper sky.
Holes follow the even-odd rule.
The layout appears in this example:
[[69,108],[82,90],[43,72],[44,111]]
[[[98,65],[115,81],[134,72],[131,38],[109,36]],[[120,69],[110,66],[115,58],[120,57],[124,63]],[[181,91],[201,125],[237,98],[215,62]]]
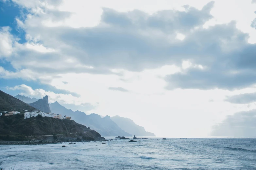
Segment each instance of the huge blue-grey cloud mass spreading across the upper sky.
[[[112,69],[182,67],[183,61],[190,61],[195,66],[164,78],[166,89],[236,89],[256,83],[256,45],[248,44],[248,35],[235,22],[203,28],[213,18],[213,2],[201,10],[184,6],[184,11],[152,15],[103,8],[100,23],[87,28],[65,25],[71,13],[57,10],[58,3],[16,2],[32,11],[21,24],[28,42],[15,43],[15,55],[8,61],[49,81],[60,73],[115,74]],[[179,34],[185,38],[177,39]]]

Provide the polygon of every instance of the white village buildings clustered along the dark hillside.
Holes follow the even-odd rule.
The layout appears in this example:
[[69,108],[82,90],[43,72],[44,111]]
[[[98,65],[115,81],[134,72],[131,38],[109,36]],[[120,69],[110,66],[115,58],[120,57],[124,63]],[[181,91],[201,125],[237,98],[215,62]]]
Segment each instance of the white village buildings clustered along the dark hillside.
[[[28,119],[28,118],[31,118],[31,117],[36,117],[38,115],[41,115],[42,117],[50,117],[50,118],[56,118],[56,119],[69,119],[71,120],[71,117],[68,117],[68,116],[64,116],[64,115],[60,115],[60,114],[55,114],[55,113],[45,113],[45,112],[42,112],[42,111],[39,111],[39,110],[34,110],[32,112],[28,112],[27,110],[23,110],[23,111],[26,111],[24,113],[24,119]],[[20,114],[20,112],[18,111],[4,111],[3,113],[0,112],[0,116],[10,116],[10,115],[16,115],[16,114]]]

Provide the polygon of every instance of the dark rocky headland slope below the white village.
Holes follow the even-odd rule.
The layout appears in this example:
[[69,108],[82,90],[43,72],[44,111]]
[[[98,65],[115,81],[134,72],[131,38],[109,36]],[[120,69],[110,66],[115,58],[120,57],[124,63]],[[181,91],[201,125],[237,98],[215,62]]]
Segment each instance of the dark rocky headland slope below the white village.
[[76,123],[74,120],[55,119],[49,117],[32,117],[24,119],[23,114],[1,116],[0,135],[58,135],[84,133],[85,137],[95,140],[101,137],[99,133]]

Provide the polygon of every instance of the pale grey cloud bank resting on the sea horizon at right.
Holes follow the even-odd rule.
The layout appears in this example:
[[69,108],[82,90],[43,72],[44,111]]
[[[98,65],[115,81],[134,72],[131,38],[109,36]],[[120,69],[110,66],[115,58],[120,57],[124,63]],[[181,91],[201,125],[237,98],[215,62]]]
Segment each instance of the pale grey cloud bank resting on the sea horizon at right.
[[235,113],[214,126],[213,136],[256,137],[256,110]]

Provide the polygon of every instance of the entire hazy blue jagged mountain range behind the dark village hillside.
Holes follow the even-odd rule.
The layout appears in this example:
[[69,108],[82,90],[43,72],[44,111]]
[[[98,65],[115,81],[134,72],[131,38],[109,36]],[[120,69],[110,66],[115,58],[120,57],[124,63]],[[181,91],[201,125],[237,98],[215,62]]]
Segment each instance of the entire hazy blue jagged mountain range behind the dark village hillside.
[[[35,98],[29,98],[26,96],[17,95],[20,100],[23,97],[24,101],[31,101]],[[21,98],[20,98],[21,97]],[[102,136],[155,136],[153,133],[146,132],[145,128],[135,124],[131,119],[123,118],[120,116],[101,116],[95,113],[86,115],[81,111],[73,111],[60,105],[57,101],[54,103],[48,103],[48,96],[39,99],[36,102],[28,103],[43,112],[52,112],[56,114],[70,116],[72,120],[79,124],[85,125],[94,129]]]

